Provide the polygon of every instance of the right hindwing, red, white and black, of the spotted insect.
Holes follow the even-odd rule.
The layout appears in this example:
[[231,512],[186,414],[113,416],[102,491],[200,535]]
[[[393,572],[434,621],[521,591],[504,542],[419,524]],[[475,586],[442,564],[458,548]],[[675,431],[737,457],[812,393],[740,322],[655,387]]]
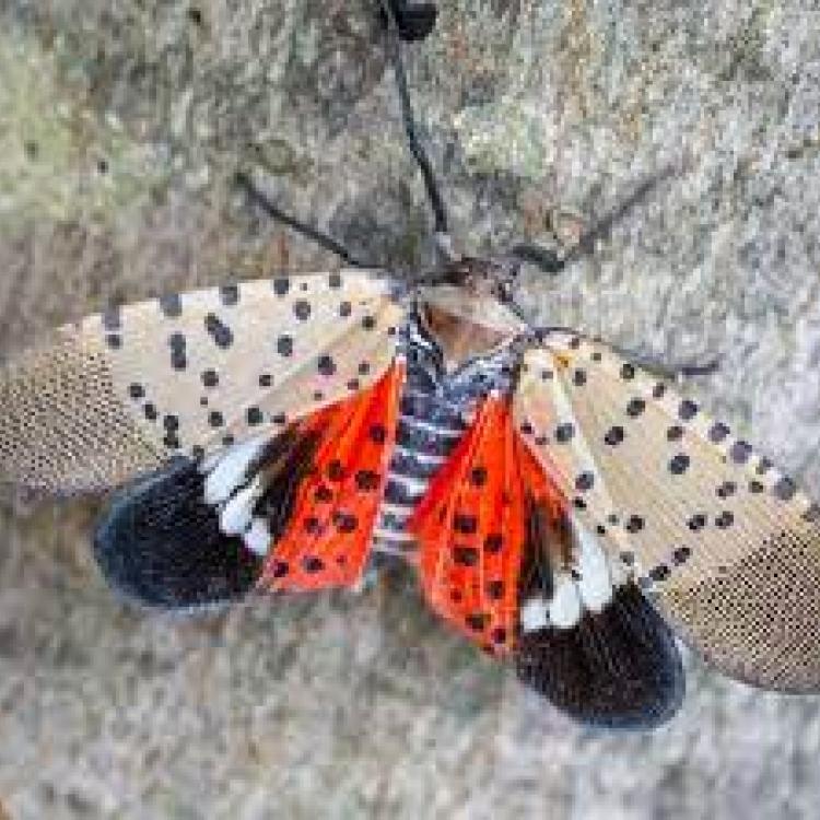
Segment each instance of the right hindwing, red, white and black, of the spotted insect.
[[509,397],[482,400],[409,528],[431,607],[575,719],[649,728],[680,705],[669,629],[577,520]]

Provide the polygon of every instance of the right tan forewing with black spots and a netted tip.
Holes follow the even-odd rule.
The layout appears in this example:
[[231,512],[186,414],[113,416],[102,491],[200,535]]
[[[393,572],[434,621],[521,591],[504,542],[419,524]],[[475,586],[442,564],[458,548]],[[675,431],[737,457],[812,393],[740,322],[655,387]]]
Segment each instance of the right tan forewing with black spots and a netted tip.
[[610,348],[549,333],[515,414],[585,526],[728,675],[820,687],[817,507],[726,425]]

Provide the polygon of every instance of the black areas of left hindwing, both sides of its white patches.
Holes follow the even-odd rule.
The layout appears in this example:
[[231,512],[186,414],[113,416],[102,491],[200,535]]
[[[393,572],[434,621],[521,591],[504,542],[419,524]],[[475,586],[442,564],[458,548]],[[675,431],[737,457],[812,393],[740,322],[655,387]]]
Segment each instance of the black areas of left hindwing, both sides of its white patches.
[[[271,541],[290,523],[317,443],[316,433],[291,427],[253,468],[265,477],[255,512]],[[97,526],[94,555],[118,593],[148,607],[190,610],[236,600],[254,587],[263,559],[220,529],[219,509],[204,503],[204,481],[195,461],[176,458],[114,496]]]

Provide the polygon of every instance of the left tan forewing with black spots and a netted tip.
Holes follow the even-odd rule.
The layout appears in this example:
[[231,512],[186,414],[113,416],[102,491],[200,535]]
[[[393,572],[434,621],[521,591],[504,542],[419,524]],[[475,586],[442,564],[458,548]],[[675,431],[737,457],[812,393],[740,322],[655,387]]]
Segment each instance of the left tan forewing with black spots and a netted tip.
[[279,277],[56,331],[0,375],[0,478],[70,493],[201,456],[353,395],[395,354],[387,277]]

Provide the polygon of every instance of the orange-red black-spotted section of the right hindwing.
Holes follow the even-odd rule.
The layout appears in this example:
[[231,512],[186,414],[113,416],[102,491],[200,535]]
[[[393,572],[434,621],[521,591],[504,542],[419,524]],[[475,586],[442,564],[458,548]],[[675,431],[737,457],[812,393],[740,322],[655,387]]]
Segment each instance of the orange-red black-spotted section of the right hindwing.
[[564,505],[513,426],[508,401],[489,396],[408,525],[432,608],[496,654],[515,645],[528,509],[537,502],[554,512]]

